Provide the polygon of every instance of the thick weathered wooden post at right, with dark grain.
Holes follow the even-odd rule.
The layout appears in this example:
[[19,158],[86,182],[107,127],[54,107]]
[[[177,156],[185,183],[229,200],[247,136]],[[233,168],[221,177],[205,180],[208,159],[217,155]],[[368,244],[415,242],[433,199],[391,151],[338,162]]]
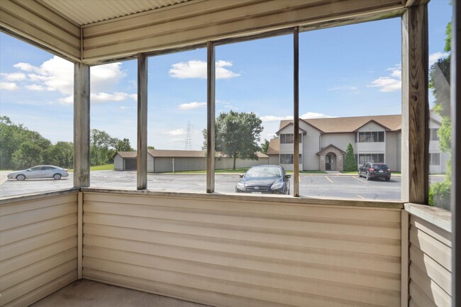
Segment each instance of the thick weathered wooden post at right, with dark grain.
[[402,16],[401,199],[428,203],[428,7]]

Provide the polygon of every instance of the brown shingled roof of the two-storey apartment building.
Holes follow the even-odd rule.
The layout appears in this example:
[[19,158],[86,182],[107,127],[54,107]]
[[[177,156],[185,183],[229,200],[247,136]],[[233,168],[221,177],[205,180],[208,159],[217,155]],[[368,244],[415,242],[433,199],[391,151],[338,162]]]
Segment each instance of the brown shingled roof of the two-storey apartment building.
[[[380,116],[353,116],[353,117],[333,117],[333,118],[307,118],[302,119],[308,125],[312,125],[321,133],[352,133],[357,129],[370,123],[370,121],[382,125],[389,131],[401,129],[401,114],[380,115]],[[280,121],[279,130],[291,124],[292,120]]]

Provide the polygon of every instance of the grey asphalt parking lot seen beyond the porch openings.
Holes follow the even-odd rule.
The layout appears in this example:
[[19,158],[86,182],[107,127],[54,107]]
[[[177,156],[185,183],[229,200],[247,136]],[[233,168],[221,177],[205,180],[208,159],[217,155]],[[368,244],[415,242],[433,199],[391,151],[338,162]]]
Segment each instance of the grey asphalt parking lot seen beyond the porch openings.
[[[343,174],[302,174],[299,191],[301,196],[400,200],[400,177],[392,177],[390,182],[382,179],[367,181],[353,175]],[[216,174],[215,191],[234,193],[235,184],[240,180],[238,174]],[[443,181],[443,177],[431,177],[431,182]],[[1,182],[0,182],[1,183]],[[35,179],[18,182],[6,180],[0,185],[0,196],[13,196],[73,186],[73,174],[60,180]],[[135,172],[99,171],[91,172],[91,187],[136,189]],[[203,192],[206,190],[205,174],[148,174],[148,189],[152,191]],[[293,179],[291,179],[293,194]]]

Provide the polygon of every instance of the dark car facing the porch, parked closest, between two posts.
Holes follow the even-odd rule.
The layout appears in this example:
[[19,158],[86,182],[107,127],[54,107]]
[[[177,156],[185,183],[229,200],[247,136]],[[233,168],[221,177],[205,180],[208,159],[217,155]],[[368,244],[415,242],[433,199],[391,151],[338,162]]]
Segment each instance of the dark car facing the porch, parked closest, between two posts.
[[257,165],[240,175],[240,182],[235,186],[237,193],[253,194],[289,194],[291,175],[285,173],[278,165]]

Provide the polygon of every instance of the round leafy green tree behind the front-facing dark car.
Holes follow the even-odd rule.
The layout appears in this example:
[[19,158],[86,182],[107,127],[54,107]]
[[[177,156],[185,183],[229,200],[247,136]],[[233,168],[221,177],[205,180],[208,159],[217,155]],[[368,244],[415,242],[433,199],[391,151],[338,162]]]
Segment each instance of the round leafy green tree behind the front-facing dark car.
[[[257,160],[257,151],[260,147],[262,121],[255,113],[229,111],[221,113],[216,118],[216,151],[223,152],[235,160]],[[206,129],[204,130],[204,149],[206,148]]]

